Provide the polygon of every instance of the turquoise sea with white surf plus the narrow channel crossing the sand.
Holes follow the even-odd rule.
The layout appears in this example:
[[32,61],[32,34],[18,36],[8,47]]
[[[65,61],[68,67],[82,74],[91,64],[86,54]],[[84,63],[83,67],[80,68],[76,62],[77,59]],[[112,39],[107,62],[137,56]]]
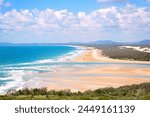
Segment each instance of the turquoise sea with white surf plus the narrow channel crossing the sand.
[[[0,94],[6,93],[9,89],[24,88],[29,82],[33,82],[33,84],[29,84],[30,86],[37,86],[36,83],[39,79],[33,74],[55,72],[57,67],[62,66],[75,67],[77,69],[109,65],[150,68],[149,64],[71,61],[83,51],[83,48],[73,46],[0,46]],[[109,76],[112,74],[95,75]],[[150,78],[150,76],[138,77]]]

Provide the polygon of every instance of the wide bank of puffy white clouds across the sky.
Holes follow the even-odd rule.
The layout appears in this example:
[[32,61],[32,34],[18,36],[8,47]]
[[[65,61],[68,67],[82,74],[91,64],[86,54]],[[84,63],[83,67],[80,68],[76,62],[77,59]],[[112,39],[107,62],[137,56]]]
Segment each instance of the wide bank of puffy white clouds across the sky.
[[150,36],[150,9],[127,5],[76,14],[52,9],[11,10],[0,14],[1,35],[14,33],[21,37],[20,32],[29,37],[41,35],[42,38],[78,38],[79,41],[84,38],[144,38]]

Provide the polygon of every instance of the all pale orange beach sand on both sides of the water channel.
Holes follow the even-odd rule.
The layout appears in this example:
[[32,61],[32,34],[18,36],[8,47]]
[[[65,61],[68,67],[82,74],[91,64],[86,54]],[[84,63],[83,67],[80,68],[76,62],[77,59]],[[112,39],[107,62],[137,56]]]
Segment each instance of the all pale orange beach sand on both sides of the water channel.
[[104,87],[120,87],[124,85],[150,82],[150,67],[136,67],[116,63],[149,62],[117,60],[105,57],[101,50],[87,47],[73,62],[111,62],[108,65],[57,66],[55,72],[34,74],[44,81],[49,90],[86,91]]

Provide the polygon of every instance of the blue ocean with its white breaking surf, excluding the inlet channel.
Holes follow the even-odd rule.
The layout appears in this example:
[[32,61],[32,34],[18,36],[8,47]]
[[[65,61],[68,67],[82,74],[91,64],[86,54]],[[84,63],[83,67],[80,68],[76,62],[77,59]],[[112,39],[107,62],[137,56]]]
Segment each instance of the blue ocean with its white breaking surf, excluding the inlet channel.
[[48,72],[45,66],[70,61],[82,49],[73,46],[0,46],[0,94],[23,88],[28,72]]

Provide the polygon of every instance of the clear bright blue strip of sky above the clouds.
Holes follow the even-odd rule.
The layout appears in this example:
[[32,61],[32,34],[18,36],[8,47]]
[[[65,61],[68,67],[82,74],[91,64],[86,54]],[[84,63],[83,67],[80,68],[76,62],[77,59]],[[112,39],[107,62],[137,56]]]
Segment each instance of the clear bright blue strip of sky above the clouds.
[[[107,0],[106,0],[107,1]],[[111,0],[108,0],[111,1]],[[115,0],[114,0],[115,1]],[[34,9],[44,10],[46,8],[51,8],[55,10],[68,9],[72,12],[86,11],[90,12],[95,9],[102,7],[109,7],[110,5],[124,6],[125,3],[131,3],[139,7],[149,6],[150,3],[146,0],[120,0],[126,2],[98,2],[96,0],[5,0],[5,2],[10,2],[10,7],[5,7],[3,11],[11,9]]]

